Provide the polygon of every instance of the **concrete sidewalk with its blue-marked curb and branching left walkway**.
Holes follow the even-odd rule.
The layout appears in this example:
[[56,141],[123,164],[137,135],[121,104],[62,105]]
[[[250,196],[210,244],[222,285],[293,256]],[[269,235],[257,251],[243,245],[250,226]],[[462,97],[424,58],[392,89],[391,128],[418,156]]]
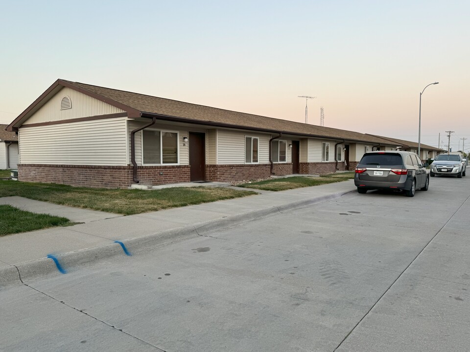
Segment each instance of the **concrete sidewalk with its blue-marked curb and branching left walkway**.
[[[236,187],[234,187],[236,189]],[[246,189],[243,189],[246,190]],[[21,197],[0,198],[22,210],[66,217],[80,224],[0,237],[0,287],[28,277],[57,272],[48,255],[68,271],[114,255],[137,254],[149,247],[196,237],[355,191],[353,180],[266,192],[256,196],[161,210],[131,216],[72,208]],[[151,191],[149,191],[151,192]],[[121,243],[117,243],[119,241]]]

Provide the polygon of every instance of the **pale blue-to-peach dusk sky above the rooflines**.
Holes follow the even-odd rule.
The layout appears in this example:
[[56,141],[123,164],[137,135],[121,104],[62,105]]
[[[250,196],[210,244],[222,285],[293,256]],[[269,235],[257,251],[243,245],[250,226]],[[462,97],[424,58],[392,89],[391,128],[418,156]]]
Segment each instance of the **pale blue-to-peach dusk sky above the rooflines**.
[[[57,79],[470,150],[470,1],[3,1],[0,123]],[[440,133],[440,138],[439,138]]]

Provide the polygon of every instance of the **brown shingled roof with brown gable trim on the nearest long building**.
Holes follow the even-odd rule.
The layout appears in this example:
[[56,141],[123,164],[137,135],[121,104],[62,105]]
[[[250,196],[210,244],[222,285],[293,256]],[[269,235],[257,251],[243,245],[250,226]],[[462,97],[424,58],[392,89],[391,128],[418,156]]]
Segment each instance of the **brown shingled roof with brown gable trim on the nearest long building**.
[[[158,98],[150,95],[133,93],[124,90],[92,86],[84,83],[57,80],[38,99],[36,99],[15,121],[9,130],[17,130],[32,114],[39,110],[54,94],[63,87],[94,97],[107,104],[127,112],[129,118],[153,117],[159,119],[198,123],[220,127],[238,128],[263,132],[283,132],[300,136],[329,138],[374,145],[395,146],[392,138],[372,134],[310,125],[300,122],[259,116],[244,112],[211,108],[208,106],[185,103],[177,100]],[[398,143],[401,144],[401,143]]]

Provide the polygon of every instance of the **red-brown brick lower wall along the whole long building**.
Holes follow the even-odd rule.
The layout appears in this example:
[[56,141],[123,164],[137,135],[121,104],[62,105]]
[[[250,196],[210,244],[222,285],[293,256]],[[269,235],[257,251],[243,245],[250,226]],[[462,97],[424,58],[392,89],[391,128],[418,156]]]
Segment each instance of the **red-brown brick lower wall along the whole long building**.
[[[354,163],[350,164],[354,170]],[[345,170],[344,162],[338,162],[338,169]],[[134,183],[132,170],[132,166],[19,164],[18,179],[83,187],[127,188]],[[322,175],[335,171],[336,162],[299,163],[300,174]],[[290,175],[292,163],[274,164],[273,172],[274,175]],[[243,181],[269,176],[271,164],[206,165],[206,181]],[[139,166],[137,179],[140,184],[153,186],[190,182],[190,166]]]

